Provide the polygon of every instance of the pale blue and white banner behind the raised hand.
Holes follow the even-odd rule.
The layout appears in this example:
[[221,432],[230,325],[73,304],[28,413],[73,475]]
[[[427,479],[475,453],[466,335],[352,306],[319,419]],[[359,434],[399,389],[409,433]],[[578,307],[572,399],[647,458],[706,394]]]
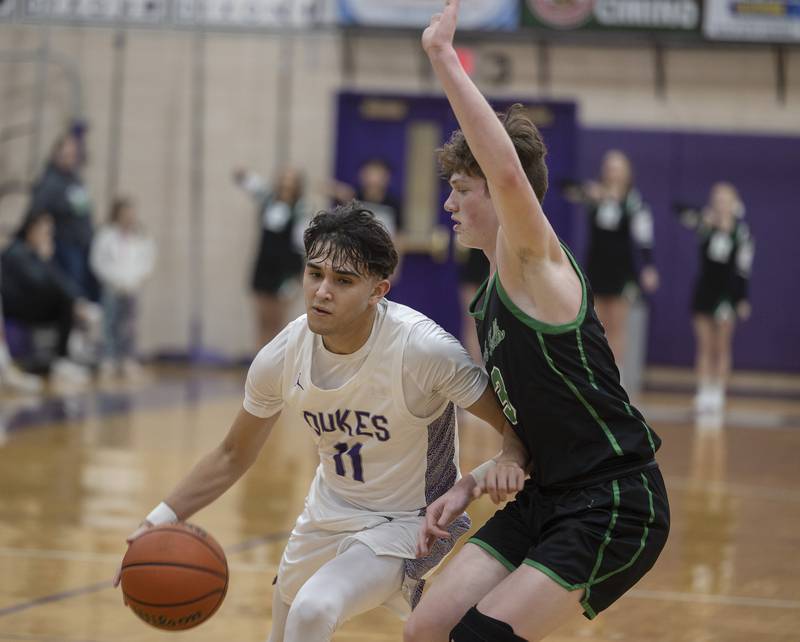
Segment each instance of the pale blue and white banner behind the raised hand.
[[[423,28],[441,10],[442,0],[338,0],[338,21],[342,25]],[[458,25],[467,30],[516,29],[519,0],[464,0]]]

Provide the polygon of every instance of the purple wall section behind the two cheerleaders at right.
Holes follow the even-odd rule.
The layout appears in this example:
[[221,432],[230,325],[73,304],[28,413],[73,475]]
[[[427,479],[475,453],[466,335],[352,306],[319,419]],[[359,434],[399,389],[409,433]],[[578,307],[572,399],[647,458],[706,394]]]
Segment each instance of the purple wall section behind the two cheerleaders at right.
[[[750,282],[753,314],[734,339],[734,367],[800,372],[800,138],[585,128],[580,176],[597,175],[603,153],[627,153],[636,183],[655,218],[655,260],[661,287],[651,298],[647,362],[689,366],[694,338],[689,303],[697,242],[672,212],[675,201],[703,205],[710,186],[730,181],[745,203],[756,240]],[[574,242],[585,247],[585,221],[575,209]]]

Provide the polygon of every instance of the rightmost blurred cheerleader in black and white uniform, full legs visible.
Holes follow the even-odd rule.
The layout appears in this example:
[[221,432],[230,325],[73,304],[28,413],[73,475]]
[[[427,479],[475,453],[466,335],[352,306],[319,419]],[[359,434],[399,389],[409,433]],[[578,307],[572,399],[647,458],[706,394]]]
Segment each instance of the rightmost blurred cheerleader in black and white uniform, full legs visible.
[[692,295],[697,341],[695,409],[720,412],[731,371],[736,318],[750,317],[747,290],[753,239],[743,220],[744,205],[730,183],[716,183],[702,211],[685,206],[676,209],[681,222],[695,230],[700,241],[700,272]]

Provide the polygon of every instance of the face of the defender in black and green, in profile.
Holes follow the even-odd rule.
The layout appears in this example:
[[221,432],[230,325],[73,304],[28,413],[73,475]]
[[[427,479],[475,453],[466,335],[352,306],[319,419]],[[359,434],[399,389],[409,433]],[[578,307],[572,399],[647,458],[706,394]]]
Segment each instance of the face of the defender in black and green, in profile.
[[450,188],[444,209],[450,212],[458,242],[464,247],[493,249],[499,224],[486,181],[456,172],[450,177]]

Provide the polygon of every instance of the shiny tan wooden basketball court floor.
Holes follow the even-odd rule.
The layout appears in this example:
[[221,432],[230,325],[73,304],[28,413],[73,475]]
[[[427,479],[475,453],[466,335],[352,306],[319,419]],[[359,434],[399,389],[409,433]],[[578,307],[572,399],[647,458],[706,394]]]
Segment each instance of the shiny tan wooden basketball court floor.
[[[227,429],[244,373],[160,369],[136,385],[20,399],[0,393],[0,641],[261,642],[271,582],[316,466],[304,431],[272,436],[254,469],[194,520],[225,547],[230,590],[208,623],[164,633],[122,606],[110,580],[124,537]],[[651,380],[652,379],[652,380]],[[553,642],[800,640],[800,386],[742,378],[723,425],[697,424],[689,375],[656,373],[639,405],[659,453],[673,526],[655,569],[600,617]],[[462,421],[469,470],[494,453]],[[482,523],[488,500],[471,508]],[[401,639],[382,609],[338,642]]]

